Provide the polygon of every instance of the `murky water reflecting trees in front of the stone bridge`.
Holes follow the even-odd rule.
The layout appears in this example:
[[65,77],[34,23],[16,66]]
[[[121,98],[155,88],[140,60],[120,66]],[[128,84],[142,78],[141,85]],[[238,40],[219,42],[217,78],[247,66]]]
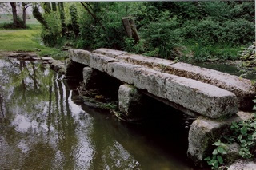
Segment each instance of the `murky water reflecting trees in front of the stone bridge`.
[[128,124],[86,106],[76,84],[0,58],[0,169],[194,169],[182,113]]

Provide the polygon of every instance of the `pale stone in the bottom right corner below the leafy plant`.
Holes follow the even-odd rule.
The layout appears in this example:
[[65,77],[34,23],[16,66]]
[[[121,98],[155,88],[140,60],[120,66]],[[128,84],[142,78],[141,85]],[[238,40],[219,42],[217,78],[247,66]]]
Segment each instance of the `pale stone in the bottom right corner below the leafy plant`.
[[255,170],[256,160],[237,160],[227,170]]

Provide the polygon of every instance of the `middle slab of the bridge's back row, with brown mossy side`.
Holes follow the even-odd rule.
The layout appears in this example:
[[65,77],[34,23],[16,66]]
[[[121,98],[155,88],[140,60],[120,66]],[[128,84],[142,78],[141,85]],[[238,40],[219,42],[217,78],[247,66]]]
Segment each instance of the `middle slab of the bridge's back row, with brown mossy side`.
[[146,57],[142,55],[135,54],[122,54],[116,57],[119,61],[125,61],[133,65],[143,65],[150,69],[155,69],[158,71],[162,71],[166,65],[174,64],[174,61],[164,60],[162,58],[156,57]]

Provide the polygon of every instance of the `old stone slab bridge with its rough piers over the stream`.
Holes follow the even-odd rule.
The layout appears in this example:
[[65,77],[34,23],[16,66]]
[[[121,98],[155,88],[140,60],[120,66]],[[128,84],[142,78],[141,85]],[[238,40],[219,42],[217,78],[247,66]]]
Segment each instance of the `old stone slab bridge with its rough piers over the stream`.
[[86,86],[98,71],[122,81],[118,90],[122,113],[129,115],[130,107],[147,95],[198,117],[190,126],[188,147],[189,156],[197,161],[209,155],[211,144],[231,121],[250,117],[239,110],[252,108],[255,87],[241,77],[114,49],[70,49],[69,57],[73,63],[84,65]]

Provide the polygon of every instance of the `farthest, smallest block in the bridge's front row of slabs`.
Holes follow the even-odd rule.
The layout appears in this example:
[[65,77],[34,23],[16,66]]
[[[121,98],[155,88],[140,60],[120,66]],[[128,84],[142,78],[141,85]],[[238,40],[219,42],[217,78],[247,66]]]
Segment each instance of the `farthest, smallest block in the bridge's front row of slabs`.
[[90,65],[90,52],[82,49],[69,49],[70,60],[83,65]]

